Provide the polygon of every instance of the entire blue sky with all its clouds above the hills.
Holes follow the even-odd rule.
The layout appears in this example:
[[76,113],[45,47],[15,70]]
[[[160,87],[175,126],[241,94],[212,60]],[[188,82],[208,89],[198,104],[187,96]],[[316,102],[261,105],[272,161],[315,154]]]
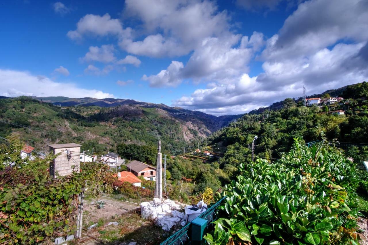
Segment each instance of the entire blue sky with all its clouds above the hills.
[[0,93],[239,114],[367,79],[363,0],[8,1]]

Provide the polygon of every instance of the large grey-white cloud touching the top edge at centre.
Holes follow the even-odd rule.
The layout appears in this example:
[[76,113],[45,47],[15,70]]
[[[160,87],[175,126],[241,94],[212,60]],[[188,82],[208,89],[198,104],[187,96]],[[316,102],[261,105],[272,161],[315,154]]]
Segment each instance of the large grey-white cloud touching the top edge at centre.
[[188,54],[211,36],[229,33],[229,17],[210,1],[125,1],[125,14],[139,18],[148,32],[163,30],[143,40],[123,38],[120,47],[132,54],[150,57]]

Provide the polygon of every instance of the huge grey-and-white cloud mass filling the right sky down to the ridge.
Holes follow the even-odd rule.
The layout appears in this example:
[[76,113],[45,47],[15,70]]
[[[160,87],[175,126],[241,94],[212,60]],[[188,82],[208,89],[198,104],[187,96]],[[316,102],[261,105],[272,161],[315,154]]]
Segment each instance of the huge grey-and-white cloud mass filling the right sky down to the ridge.
[[[362,0],[301,3],[266,41],[260,57],[264,72],[256,77],[245,73],[231,82],[215,80],[173,105],[233,114],[299,97],[303,85],[308,94],[314,94],[362,82],[368,77],[367,10]],[[262,45],[261,35],[240,41],[240,48],[259,50]]]

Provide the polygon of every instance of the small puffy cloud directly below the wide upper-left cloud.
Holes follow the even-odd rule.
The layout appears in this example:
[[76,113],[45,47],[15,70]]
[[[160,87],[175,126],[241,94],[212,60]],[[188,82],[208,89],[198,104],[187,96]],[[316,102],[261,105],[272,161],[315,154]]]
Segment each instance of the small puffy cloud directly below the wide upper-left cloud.
[[89,52],[85,54],[81,61],[99,61],[102,63],[111,63],[116,60],[114,45],[90,46]]

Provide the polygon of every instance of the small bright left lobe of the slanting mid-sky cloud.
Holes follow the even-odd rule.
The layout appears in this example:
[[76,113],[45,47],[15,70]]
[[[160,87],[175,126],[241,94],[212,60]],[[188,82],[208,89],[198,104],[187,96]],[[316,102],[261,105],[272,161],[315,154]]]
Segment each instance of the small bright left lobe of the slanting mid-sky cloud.
[[149,81],[151,87],[171,86],[175,87],[181,83],[181,78],[178,73],[183,69],[183,63],[179,61],[171,61],[166,70],[162,70],[157,75],[146,76],[143,75],[142,80]]

